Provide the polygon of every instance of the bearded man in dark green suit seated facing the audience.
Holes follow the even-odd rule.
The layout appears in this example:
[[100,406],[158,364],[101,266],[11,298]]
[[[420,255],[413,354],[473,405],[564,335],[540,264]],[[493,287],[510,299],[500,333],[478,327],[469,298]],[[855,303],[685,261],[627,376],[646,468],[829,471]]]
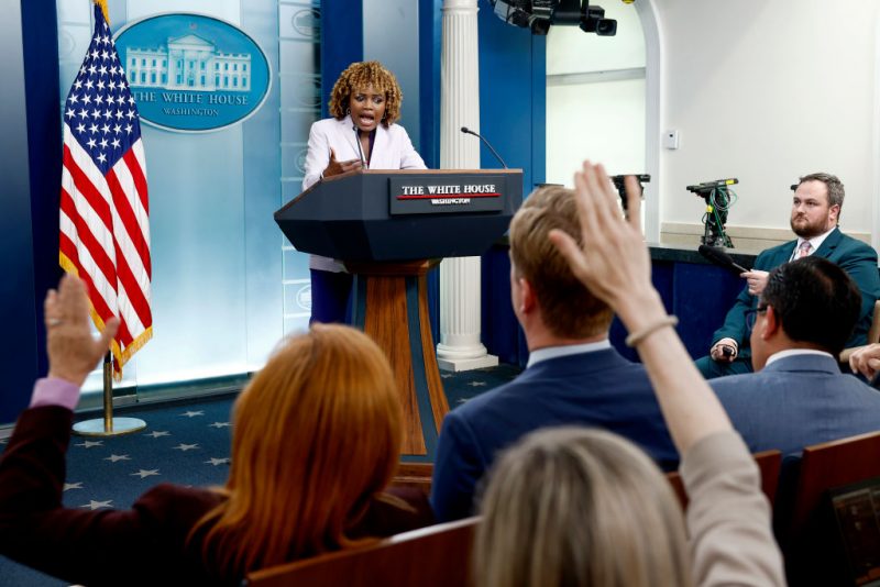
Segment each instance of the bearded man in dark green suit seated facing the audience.
[[815,255],[833,261],[855,279],[861,290],[861,311],[847,346],[867,342],[873,306],[880,297],[877,252],[837,226],[844,206],[844,185],[831,174],[802,177],[794,190],[791,230],[798,239],[768,248],[755,259],[755,267],[743,274],[747,285],[727,312],[724,325],[715,331],[710,355],[696,362],[707,379],[737,373],[750,373],[751,351],[746,334],[746,313],[754,310],[767,284],[770,269],[795,258]]

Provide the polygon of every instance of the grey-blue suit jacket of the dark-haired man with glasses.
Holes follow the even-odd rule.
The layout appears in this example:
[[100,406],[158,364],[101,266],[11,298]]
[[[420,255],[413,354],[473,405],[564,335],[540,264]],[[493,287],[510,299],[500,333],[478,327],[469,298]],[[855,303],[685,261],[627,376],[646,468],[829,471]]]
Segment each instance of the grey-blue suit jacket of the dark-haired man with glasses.
[[798,453],[880,430],[880,391],[840,373],[831,356],[784,357],[708,384],[752,452]]

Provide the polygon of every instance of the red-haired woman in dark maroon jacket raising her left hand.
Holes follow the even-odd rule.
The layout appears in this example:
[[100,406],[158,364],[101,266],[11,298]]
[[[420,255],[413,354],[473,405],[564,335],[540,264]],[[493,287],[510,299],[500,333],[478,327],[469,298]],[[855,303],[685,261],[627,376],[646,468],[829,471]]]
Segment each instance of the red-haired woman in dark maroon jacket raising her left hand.
[[235,402],[222,488],[163,484],[129,510],[62,505],[79,386],[116,320],[91,340],[85,286],[46,298],[50,375],[0,458],[0,554],[68,582],[239,585],[250,571],[431,523],[424,496],[384,489],[402,413],[378,347],[346,326],[284,342]]

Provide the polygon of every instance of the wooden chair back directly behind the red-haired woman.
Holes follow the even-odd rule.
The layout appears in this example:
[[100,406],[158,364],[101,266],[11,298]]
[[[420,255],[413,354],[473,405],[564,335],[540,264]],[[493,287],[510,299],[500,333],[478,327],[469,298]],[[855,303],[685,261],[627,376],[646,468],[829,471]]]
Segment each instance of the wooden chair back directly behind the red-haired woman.
[[339,551],[248,575],[250,587],[469,586],[479,518],[431,525],[349,551]]

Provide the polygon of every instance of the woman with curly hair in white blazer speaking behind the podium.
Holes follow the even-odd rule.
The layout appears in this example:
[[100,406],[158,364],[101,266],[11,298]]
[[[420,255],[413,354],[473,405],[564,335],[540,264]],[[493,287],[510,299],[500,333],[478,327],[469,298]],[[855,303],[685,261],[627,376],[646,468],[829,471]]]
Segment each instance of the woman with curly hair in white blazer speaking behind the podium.
[[[400,119],[403,93],[378,62],[351,64],[330,93],[330,114],[311,125],[302,189],[356,169],[425,169]],[[311,255],[311,321],[344,322],[352,276],[336,259]]]

